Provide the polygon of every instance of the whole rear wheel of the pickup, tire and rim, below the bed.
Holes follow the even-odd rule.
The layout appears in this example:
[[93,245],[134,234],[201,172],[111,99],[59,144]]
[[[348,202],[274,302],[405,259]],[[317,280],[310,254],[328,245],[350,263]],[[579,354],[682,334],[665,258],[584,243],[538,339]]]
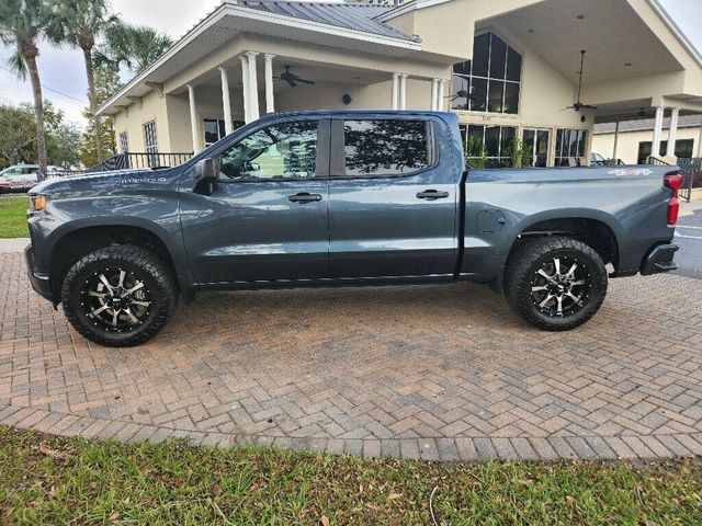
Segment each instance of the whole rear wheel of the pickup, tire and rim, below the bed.
[[525,321],[547,331],[587,322],[607,295],[608,272],[600,255],[571,238],[524,241],[507,263],[505,294]]

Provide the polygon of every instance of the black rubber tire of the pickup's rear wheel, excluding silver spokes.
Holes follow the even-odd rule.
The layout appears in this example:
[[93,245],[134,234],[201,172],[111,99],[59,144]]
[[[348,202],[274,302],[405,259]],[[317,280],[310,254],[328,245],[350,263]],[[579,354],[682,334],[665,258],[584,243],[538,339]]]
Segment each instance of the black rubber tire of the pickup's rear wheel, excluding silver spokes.
[[[544,312],[533,297],[534,278],[540,268],[556,259],[581,264],[581,281],[588,282],[582,291],[581,305],[568,298],[574,311],[567,316]],[[562,272],[565,270],[562,268]],[[600,309],[607,295],[608,277],[600,255],[581,241],[567,237],[528,239],[521,242],[507,262],[505,296],[510,307],[532,325],[546,331],[569,331],[586,323]],[[548,282],[548,286],[551,283]],[[544,291],[544,295],[547,294],[551,293]],[[561,304],[557,298],[554,299],[552,302]]]

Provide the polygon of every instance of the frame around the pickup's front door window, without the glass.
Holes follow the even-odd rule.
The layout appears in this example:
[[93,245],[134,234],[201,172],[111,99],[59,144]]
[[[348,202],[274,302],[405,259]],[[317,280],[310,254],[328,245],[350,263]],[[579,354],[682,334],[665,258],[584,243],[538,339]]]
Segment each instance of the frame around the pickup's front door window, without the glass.
[[[288,183],[288,182],[318,181],[320,179],[329,179],[330,124],[329,124],[329,118],[326,118],[326,117],[309,117],[309,118],[292,117],[288,119],[276,121],[274,123],[262,123],[260,126],[252,128],[248,134],[241,137],[236,137],[235,139],[234,135],[230,136],[233,140],[230,142],[227,141],[226,144],[223,144],[219,148],[216,149],[216,151],[213,152],[213,155],[210,158],[215,159],[217,164],[217,170],[219,170],[218,167],[220,165],[219,163],[222,162],[222,156],[224,155],[224,152],[227,151],[229,148],[236,146],[237,144],[241,142],[242,140],[247,139],[248,137],[251,137],[252,135],[258,134],[259,132],[265,128],[278,126],[279,124],[310,123],[310,122],[317,123],[317,160],[316,160],[316,167],[315,167],[315,175],[313,175],[312,178],[230,179],[230,180],[224,180],[224,179],[217,178],[216,183],[222,183],[222,184]],[[217,142],[215,142],[215,145],[216,144]]]

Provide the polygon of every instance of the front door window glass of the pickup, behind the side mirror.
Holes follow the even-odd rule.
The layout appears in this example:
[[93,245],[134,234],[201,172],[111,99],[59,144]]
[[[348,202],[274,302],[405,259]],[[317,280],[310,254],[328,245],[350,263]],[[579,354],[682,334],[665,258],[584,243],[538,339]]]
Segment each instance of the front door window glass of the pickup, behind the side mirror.
[[314,178],[317,121],[274,124],[241,139],[220,158],[222,181]]

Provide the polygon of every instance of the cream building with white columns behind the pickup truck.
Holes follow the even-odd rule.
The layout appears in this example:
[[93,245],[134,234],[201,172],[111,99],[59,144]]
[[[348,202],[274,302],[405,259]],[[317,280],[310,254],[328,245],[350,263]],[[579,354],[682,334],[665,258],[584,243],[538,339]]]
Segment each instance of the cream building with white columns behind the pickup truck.
[[514,138],[534,165],[587,162],[596,123],[653,116],[652,151],[673,155],[702,56],[657,0],[224,0],[99,113],[121,151],[192,153],[315,108],[453,111],[489,165]]

